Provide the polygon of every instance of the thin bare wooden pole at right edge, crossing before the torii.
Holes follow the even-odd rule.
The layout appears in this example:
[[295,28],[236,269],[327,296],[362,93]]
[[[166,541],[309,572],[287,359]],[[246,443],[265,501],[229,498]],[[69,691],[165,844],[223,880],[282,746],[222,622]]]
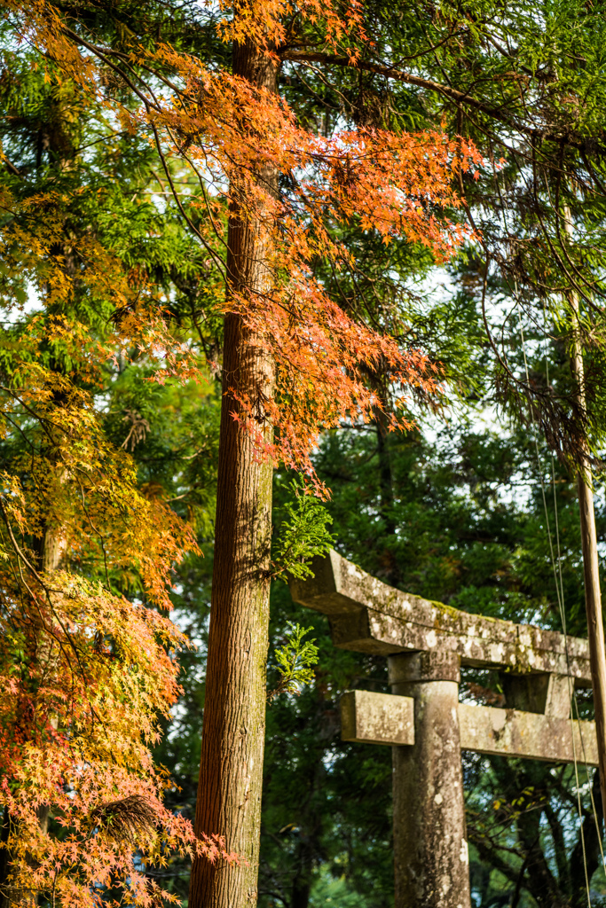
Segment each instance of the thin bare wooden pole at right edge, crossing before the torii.
[[[565,227],[571,236],[571,213],[564,212]],[[581,338],[579,333],[579,297],[576,292],[570,294],[571,308],[574,313],[571,368],[576,381],[576,402],[581,416],[584,417],[587,407],[585,398],[585,369],[582,357]],[[593,507],[593,483],[589,445],[583,429],[581,455],[577,469],[577,489],[579,510],[581,513],[581,546],[583,555],[583,574],[585,581],[585,611],[587,613],[587,636],[590,648],[591,685],[593,687],[593,708],[595,727],[598,739],[598,759],[600,761],[601,803],[606,808],[606,646],[604,644],[604,622],[601,612],[600,568],[598,562],[598,537],[595,528],[595,509]],[[604,809],[606,815],[606,809]]]

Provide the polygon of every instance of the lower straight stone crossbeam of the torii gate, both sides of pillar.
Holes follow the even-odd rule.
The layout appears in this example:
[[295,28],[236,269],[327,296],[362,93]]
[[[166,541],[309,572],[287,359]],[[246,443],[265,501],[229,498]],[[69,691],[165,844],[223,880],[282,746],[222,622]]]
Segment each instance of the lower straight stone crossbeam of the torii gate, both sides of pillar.
[[[395,658],[402,661],[401,656]],[[402,666],[390,666],[391,678],[402,675]],[[402,690],[403,684],[394,685],[394,689]],[[406,689],[409,689],[408,685],[412,682],[405,684]],[[345,694],[342,704],[346,698],[346,705],[342,706],[346,714],[341,733],[344,741],[384,745],[414,743],[412,731],[405,730],[405,717],[410,716],[409,721],[412,720],[412,696],[371,694],[358,690],[354,694]],[[576,755],[581,764],[598,765],[598,745],[593,722],[571,722],[570,719],[558,716],[466,703],[457,705],[457,715],[462,750],[480,754],[523,756],[551,763],[572,763]]]

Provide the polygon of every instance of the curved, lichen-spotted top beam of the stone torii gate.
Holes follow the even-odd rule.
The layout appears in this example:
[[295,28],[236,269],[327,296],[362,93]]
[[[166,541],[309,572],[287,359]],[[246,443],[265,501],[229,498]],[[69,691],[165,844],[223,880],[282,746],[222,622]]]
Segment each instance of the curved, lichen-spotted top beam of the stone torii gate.
[[333,643],[385,656],[451,650],[462,665],[572,676],[591,686],[589,646],[531,625],[470,615],[440,602],[402,593],[331,552],[313,565],[315,577],[293,581],[295,602],[328,615]]

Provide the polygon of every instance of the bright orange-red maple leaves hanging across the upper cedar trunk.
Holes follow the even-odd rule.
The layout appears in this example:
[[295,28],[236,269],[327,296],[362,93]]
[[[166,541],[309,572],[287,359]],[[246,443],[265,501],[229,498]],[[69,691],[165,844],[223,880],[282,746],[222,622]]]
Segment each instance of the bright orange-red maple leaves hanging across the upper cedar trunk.
[[[443,211],[460,205],[454,188],[458,174],[481,163],[472,144],[441,133],[362,128],[323,137],[303,129],[279,95],[211,71],[166,44],[152,49],[134,44],[129,54],[118,53],[66,28],[55,5],[22,6],[11,0],[8,6],[15,11],[21,39],[45,54],[40,65],[49,78],[73,81],[90,104],[110,109],[127,130],[155,144],[175,201],[222,281],[227,280],[224,229],[230,203],[271,251],[263,291],[232,288],[223,304],[225,311],[243,316],[275,360],[275,390],[263,401],[275,440],[268,445],[260,435],[260,453],[313,473],[308,452],[321,429],[342,419],[366,419],[376,406],[387,409],[387,401],[367,389],[365,371],[380,369],[396,401],[405,400],[410,386],[436,390],[422,352],[402,350],[390,337],[393,313],[382,313],[387,331],[373,330],[363,313],[333,301],[314,271],[319,262],[336,271],[355,267],[339,238],[340,229],[353,222],[378,232],[384,243],[403,236],[428,246],[438,260],[447,259],[468,235]],[[303,3],[296,11],[320,19],[325,43],[342,49],[355,64],[363,7],[345,6],[343,11],[330,3]],[[277,59],[285,39],[284,16],[293,10],[288,4],[259,2],[237,5],[232,16],[225,7],[219,33],[224,41],[245,35]],[[108,70],[130,86],[131,104],[106,96]],[[199,180],[196,198],[180,196],[169,167],[174,160]],[[270,172],[289,186],[277,198],[263,177]],[[240,404],[248,413],[243,422],[254,434],[258,401]],[[390,411],[397,414],[397,405]],[[408,425],[403,414],[390,419],[393,428]]]

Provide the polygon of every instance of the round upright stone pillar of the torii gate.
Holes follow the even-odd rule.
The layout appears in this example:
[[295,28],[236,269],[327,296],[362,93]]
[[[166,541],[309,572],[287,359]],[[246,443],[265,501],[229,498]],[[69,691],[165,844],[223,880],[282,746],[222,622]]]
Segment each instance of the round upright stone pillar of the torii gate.
[[459,686],[405,681],[392,690],[414,700],[415,741],[392,751],[395,908],[470,908]]

